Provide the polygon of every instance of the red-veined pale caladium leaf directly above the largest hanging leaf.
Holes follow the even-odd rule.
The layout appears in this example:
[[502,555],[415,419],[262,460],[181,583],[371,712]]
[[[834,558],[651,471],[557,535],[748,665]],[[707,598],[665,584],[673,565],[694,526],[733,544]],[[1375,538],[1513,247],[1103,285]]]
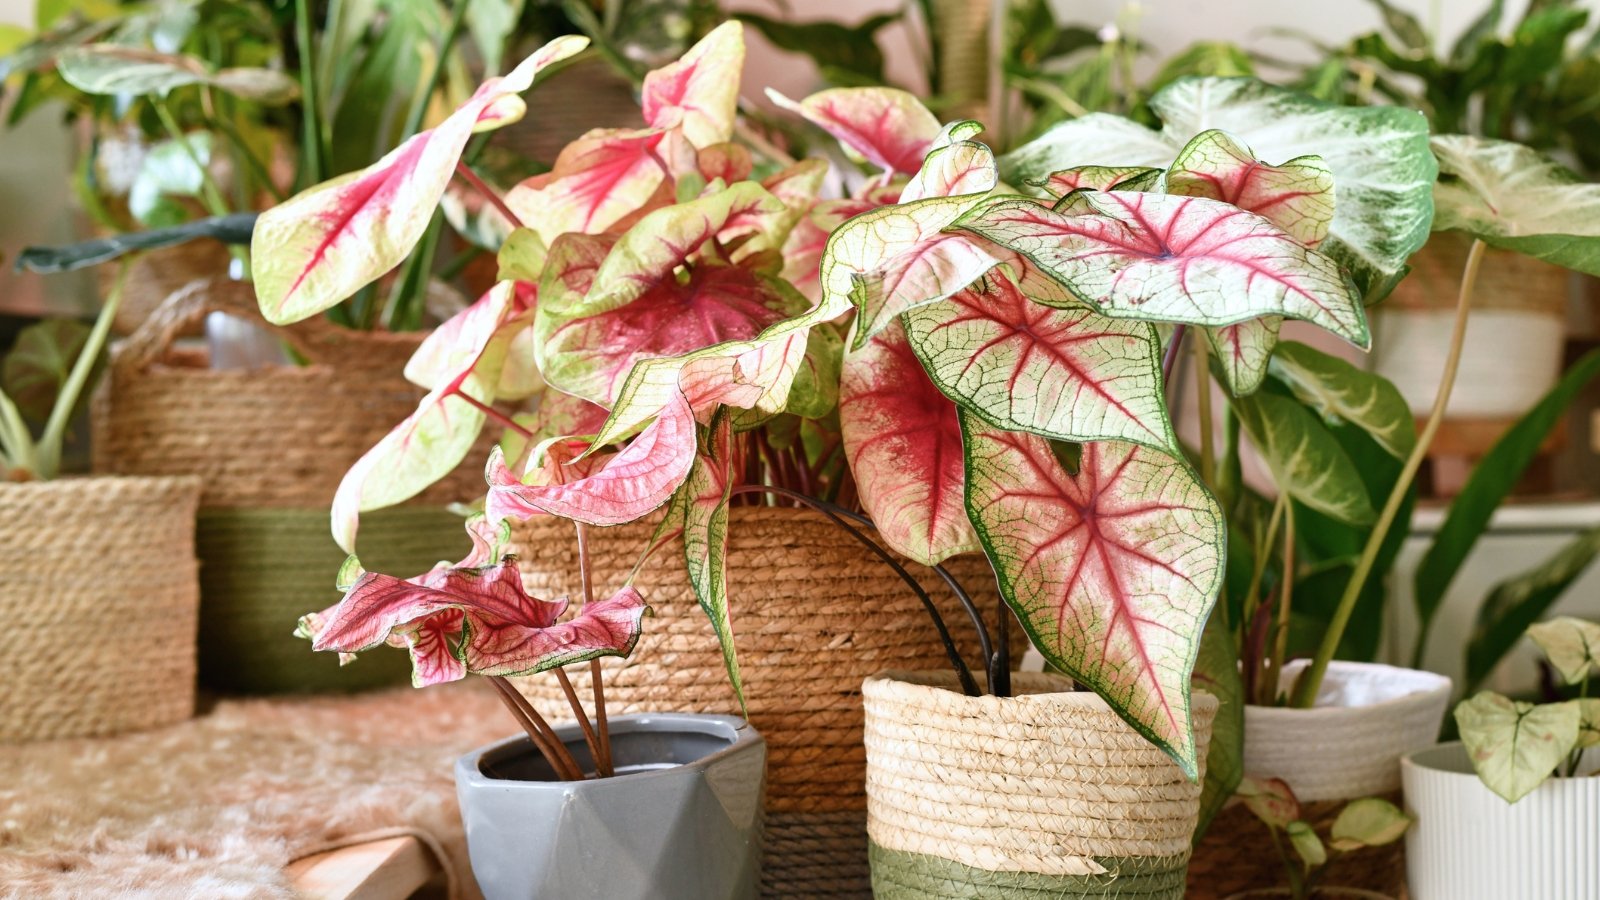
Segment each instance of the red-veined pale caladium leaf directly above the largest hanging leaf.
[[995,271],[904,323],[939,391],[994,428],[1178,453],[1147,322],[1042,306]]

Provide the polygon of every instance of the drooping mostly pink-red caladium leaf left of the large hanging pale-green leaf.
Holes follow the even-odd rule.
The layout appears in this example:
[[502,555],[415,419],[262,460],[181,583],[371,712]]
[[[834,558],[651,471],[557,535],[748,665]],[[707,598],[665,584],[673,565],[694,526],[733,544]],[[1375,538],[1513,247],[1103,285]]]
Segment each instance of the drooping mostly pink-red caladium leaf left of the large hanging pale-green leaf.
[[845,357],[838,431],[883,543],[923,565],[982,549],[966,519],[962,429],[899,325]]

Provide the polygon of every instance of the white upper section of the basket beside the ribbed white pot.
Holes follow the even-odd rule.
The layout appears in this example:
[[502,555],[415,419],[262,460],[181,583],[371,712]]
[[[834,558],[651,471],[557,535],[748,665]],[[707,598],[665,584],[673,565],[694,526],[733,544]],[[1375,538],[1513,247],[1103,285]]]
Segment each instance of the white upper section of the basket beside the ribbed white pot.
[[[1285,666],[1293,685],[1306,661]],[[1400,790],[1400,757],[1432,746],[1450,703],[1442,674],[1333,661],[1310,709],[1245,708],[1245,773],[1283,778],[1302,802]]]

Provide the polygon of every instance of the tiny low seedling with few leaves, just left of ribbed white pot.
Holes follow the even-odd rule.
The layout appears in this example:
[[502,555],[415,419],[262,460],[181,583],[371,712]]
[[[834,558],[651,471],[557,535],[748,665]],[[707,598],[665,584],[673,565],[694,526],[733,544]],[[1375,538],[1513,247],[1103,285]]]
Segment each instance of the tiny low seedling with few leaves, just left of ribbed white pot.
[[1411,817],[1382,798],[1350,801],[1333,820],[1326,839],[1302,818],[1299,799],[1282,778],[1245,777],[1238,785],[1245,806],[1272,833],[1283,860],[1293,900],[1309,900],[1322,887],[1326,865],[1342,854],[1392,844],[1411,826]]

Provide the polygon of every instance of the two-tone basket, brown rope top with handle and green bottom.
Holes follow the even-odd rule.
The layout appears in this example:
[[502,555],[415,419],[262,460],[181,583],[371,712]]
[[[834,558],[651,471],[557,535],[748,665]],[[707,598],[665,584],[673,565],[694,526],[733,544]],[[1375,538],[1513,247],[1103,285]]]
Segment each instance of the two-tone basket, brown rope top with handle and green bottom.
[[[328,508],[346,469],[416,410],[424,392],[402,370],[422,335],[314,317],[274,328],[306,365],[213,370],[178,343],[210,312],[262,323],[251,285],[190,282],[112,349],[93,404],[98,472],[202,477],[202,684],[256,693],[403,682],[403,653],[341,669],[293,629],[339,597],[344,552]],[[363,565],[414,575],[459,559],[467,540],[445,504],[482,493],[488,440],[411,504],[363,516]]]

